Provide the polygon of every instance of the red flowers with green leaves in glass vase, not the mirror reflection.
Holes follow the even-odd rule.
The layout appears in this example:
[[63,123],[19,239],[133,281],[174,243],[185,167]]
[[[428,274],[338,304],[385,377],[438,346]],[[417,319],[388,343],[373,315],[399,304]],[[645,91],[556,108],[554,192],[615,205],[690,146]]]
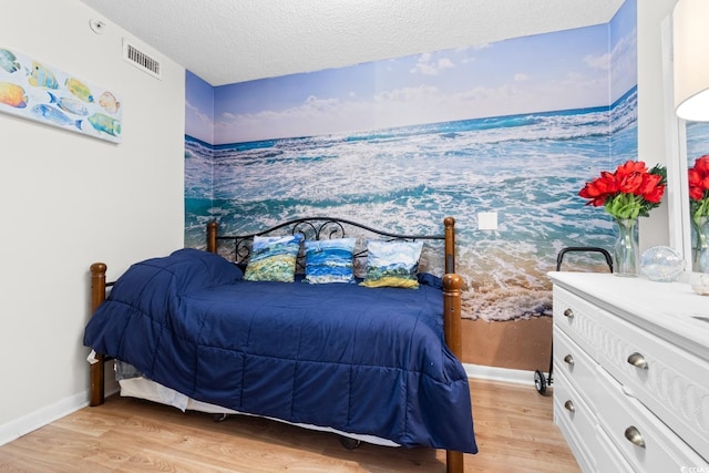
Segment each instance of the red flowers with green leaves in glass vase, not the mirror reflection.
[[[709,163],[708,163],[709,164]],[[578,195],[588,198],[586,205],[606,207],[616,219],[647,217],[660,205],[667,186],[667,169],[656,165],[651,169],[641,161],[627,161],[615,173],[600,172],[600,177],[586,183]]]

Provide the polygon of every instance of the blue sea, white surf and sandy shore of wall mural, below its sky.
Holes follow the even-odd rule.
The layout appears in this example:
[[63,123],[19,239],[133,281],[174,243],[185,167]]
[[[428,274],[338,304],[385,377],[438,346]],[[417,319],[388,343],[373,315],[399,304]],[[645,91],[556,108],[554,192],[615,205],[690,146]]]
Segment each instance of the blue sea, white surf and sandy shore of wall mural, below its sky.
[[[464,317],[548,315],[546,273],[558,250],[610,248],[608,216],[577,193],[599,169],[637,158],[636,117],[634,88],[610,109],[218,146],[187,136],[187,246],[204,245],[204,225],[215,217],[230,233],[332,215],[421,234],[440,230],[450,215],[467,284]],[[477,230],[479,212],[497,212],[499,229]]]

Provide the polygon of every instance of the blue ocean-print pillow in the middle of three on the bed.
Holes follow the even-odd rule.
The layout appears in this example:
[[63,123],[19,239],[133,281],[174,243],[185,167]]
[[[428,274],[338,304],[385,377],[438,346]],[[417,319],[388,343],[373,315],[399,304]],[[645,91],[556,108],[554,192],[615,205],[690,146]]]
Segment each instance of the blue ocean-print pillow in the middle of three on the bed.
[[352,254],[357,238],[307,240],[305,282],[353,282]]

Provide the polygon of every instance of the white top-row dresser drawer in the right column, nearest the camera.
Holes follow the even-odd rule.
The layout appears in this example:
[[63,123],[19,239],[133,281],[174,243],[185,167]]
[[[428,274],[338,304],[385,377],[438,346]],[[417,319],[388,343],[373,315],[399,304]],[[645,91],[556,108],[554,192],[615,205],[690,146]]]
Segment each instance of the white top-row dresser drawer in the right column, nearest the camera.
[[599,310],[598,361],[709,460],[709,363]]

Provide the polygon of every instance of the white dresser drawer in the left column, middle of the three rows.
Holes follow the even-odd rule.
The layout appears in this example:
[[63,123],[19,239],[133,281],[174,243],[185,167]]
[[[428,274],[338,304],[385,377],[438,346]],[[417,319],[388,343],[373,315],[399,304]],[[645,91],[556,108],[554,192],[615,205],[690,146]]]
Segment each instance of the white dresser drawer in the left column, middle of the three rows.
[[556,376],[564,374],[584,401],[590,404],[597,398],[597,366],[578,345],[557,327],[554,328],[554,372]]

